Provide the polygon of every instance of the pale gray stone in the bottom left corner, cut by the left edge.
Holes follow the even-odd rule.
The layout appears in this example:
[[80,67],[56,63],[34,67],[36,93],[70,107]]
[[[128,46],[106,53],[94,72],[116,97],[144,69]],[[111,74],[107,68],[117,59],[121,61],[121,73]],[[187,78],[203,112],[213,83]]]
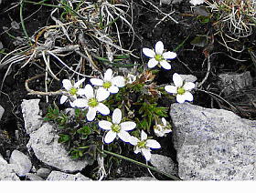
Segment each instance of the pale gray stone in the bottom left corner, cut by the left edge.
[[0,181],[20,181],[11,164],[0,164]]

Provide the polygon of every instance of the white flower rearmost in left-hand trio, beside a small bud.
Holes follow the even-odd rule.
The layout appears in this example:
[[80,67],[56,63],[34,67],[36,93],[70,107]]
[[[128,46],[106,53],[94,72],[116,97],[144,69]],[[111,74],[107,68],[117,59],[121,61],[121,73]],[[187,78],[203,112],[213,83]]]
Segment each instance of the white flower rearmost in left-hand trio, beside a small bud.
[[91,78],[91,84],[95,86],[102,86],[109,93],[118,93],[119,88],[125,86],[125,79],[123,76],[112,76],[112,69],[108,69],[104,73],[104,78],[101,80],[100,78]]

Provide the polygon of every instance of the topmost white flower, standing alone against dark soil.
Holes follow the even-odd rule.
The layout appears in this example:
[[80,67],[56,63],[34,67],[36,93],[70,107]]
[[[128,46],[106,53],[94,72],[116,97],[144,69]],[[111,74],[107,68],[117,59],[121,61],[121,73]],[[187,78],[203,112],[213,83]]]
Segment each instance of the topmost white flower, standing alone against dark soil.
[[149,68],[152,68],[160,64],[160,66],[164,67],[166,70],[171,69],[172,66],[166,60],[176,58],[176,53],[164,51],[164,44],[161,41],[156,42],[155,50],[152,50],[150,48],[143,48],[144,55],[150,57],[147,66]]

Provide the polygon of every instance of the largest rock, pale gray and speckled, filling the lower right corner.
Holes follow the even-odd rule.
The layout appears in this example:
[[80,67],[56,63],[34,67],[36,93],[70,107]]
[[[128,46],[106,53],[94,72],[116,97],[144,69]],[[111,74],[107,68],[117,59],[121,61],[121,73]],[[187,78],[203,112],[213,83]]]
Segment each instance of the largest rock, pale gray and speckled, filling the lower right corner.
[[188,103],[173,104],[170,116],[180,178],[256,179],[256,121]]

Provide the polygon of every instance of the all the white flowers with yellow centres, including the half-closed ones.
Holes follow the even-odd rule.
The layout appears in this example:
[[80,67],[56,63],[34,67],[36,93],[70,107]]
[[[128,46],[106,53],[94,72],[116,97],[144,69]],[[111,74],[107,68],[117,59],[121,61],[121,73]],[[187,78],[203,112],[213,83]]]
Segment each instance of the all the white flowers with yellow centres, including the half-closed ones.
[[[145,56],[150,57],[148,61],[148,67],[153,68],[155,66],[162,66],[166,70],[171,69],[171,65],[168,60],[174,59],[176,53],[165,52],[164,44],[158,41],[155,44],[155,50],[150,48],[143,48]],[[133,84],[136,81],[136,76],[128,75],[126,78],[123,76],[113,76],[112,69],[108,69],[104,73],[104,77],[91,78],[90,84],[87,84],[82,88],[82,83],[85,78],[80,79],[78,82],[72,84],[70,80],[64,79],[62,81],[63,87],[69,92],[69,96],[61,96],[60,104],[65,103],[69,99],[70,107],[88,108],[86,118],[88,121],[93,121],[97,112],[102,115],[109,115],[110,109],[102,102],[106,100],[111,94],[119,92],[119,87],[123,87],[126,84]],[[192,101],[193,96],[190,93],[191,89],[195,87],[192,82],[186,82],[178,74],[173,75],[174,85],[165,86],[165,91],[176,96],[178,103],[184,103]],[[93,87],[95,86],[95,87]],[[80,96],[80,97],[78,97]],[[160,119],[159,119],[160,120]],[[162,123],[159,120],[155,120],[155,136],[165,137],[167,133],[170,133],[171,126],[164,117],[162,117]],[[147,137],[144,130],[141,131],[141,137],[133,137],[128,132],[136,127],[133,121],[122,121],[122,111],[119,108],[114,109],[112,112],[112,121],[101,120],[99,121],[99,127],[107,131],[104,137],[106,144],[112,143],[115,138],[120,138],[126,143],[130,143],[134,146],[134,153],[141,152],[146,161],[151,158],[151,148],[160,148],[160,144],[151,137]]]

